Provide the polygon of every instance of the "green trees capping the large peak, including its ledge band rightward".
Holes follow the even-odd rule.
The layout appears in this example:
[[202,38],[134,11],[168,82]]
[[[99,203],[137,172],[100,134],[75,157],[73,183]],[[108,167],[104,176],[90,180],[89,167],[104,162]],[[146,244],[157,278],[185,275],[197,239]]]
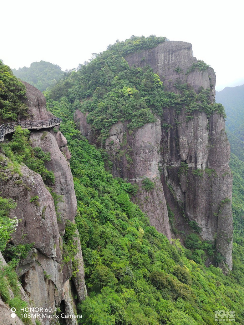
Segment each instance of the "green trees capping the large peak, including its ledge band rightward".
[[[154,122],[152,113],[162,115],[162,108],[169,106],[177,111],[186,107],[190,114],[200,110],[206,111],[208,116],[215,111],[224,115],[221,104],[210,102],[210,89],[199,89],[196,94],[191,86],[178,83],[182,94],[164,92],[159,76],[149,65],[142,69],[130,68],[124,59],[131,52],[149,49],[163,41],[165,38],[155,35],[132,36],[125,42],[109,45],[90,63],[81,65],[77,72],[67,73],[48,96],[61,105],[72,104],[73,111],[88,112],[87,122],[98,130],[100,140],[108,137],[109,128],[118,121],[128,120],[128,128],[133,130]],[[207,66],[201,62],[200,67]],[[198,65],[193,68],[200,69]]]

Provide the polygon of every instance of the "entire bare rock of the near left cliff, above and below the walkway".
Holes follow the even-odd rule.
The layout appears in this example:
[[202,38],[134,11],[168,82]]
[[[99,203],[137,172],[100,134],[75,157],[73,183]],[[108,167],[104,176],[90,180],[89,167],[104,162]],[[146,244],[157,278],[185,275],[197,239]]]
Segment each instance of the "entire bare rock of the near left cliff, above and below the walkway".
[[[31,119],[52,118],[52,114],[46,110],[46,100],[42,93],[27,83],[25,86]],[[62,237],[65,234],[65,221],[75,223],[77,210],[69,167],[71,155],[67,141],[59,131],[54,132],[51,128],[32,131],[30,139],[33,147],[41,147],[43,151],[50,152],[51,159],[46,163],[46,168],[54,172],[55,183],[50,184],[48,189],[41,176],[24,165],[19,172],[11,167],[2,170],[1,195],[12,198],[17,203],[10,217],[17,216],[20,219],[11,241],[15,245],[33,243],[28,256],[20,260],[17,273],[31,304],[50,308],[50,314],[61,306],[66,314],[74,315],[76,310],[72,296],[76,295],[78,301],[84,299],[86,286],[77,233],[74,236],[77,247],[74,256],[77,266],[75,277],[72,276],[72,261],[65,262],[63,259]],[[1,160],[6,162],[6,166],[11,166],[11,162],[3,154]],[[50,189],[59,198],[56,207]],[[49,324],[49,318],[43,318],[43,322],[45,325]],[[67,319],[66,323],[77,324],[76,319]]]

